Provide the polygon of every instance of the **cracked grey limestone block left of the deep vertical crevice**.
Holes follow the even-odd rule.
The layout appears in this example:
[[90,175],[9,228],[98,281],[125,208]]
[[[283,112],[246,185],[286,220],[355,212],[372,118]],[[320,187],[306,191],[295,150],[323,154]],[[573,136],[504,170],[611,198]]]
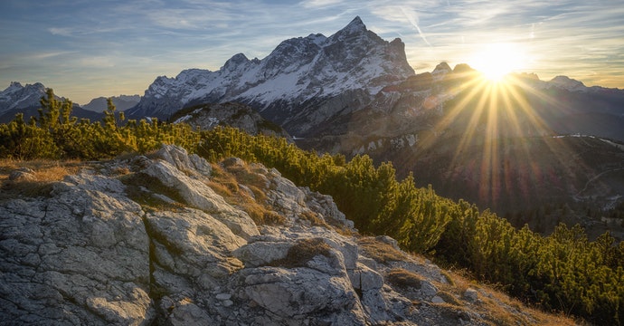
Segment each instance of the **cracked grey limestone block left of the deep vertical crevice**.
[[117,180],[81,174],[0,206],[0,316],[17,324],[143,324],[148,238]]

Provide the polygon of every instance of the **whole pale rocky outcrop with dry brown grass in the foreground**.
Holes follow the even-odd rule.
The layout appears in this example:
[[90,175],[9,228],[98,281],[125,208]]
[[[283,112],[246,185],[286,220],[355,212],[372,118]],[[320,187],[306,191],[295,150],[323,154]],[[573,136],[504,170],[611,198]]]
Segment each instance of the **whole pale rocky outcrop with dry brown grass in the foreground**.
[[62,181],[37,173],[2,178],[0,318],[12,324],[563,321],[359,236],[331,197],[237,158],[213,166],[165,146]]

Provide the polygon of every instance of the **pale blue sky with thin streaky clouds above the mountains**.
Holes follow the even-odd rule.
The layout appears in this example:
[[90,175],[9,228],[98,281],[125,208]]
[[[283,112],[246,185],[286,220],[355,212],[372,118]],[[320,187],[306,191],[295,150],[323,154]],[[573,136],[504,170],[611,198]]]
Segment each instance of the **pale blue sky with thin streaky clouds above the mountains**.
[[502,43],[516,72],[624,89],[621,0],[2,0],[0,91],[43,82],[79,104],[143,95],[157,76],[216,71],[236,53],[262,59],[355,16],[386,41],[400,37],[417,73],[440,62],[478,69]]

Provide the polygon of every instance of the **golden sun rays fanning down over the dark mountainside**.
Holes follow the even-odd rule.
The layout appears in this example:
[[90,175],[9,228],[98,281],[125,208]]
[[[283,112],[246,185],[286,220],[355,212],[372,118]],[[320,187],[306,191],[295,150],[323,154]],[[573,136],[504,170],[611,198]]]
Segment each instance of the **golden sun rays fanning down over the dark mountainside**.
[[[518,199],[531,197],[534,187],[547,171],[534,163],[533,139],[552,136],[535,110],[532,100],[552,101],[543,92],[534,91],[521,75],[507,74],[494,80],[483,73],[466,70],[456,75],[452,90],[455,98],[445,108],[445,118],[436,130],[452,130],[456,149],[449,162],[452,179],[464,180],[474,188],[481,202],[495,204],[515,194]],[[542,140],[538,140],[541,141]],[[547,150],[555,159],[561,150]]]

